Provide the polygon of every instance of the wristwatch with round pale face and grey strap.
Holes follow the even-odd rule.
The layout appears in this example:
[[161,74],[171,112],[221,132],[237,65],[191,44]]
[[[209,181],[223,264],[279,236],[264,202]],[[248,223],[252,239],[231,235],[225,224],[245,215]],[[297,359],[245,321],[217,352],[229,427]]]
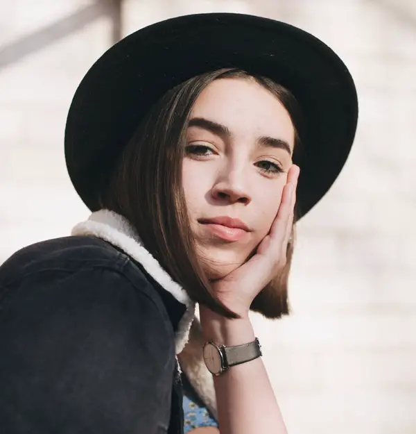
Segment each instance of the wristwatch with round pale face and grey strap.
[[218,346],[210,340],[204,345],[204,361],[211,374],[216,376],[223,374],[232,366],[250,362],[261,356],[261,346],[256,339],[248,344],[236,345],[235,347]]

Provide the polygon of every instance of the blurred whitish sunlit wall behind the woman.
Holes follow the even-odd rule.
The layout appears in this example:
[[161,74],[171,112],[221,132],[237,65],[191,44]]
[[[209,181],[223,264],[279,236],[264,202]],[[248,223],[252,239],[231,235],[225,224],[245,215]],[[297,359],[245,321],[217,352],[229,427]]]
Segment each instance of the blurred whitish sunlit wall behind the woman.
[[92,63],[137,28],[214,11],[304,28],[358,88],[351,156],[298,228],[293,314],[253,315],[288,431],[415,434],[415,0],[0,0],[0,263],[89,215],[63,137]]

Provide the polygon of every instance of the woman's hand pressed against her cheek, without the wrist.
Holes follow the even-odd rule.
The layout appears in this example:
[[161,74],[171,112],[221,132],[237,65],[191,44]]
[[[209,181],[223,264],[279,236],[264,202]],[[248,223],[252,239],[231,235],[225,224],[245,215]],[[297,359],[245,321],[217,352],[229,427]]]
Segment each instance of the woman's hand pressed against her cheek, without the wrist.
[[292,233],[299,172],[296,165],[289,169],[275,221],[254,256],[234,272],[212,282],[218,299],[242,318],[248,317],[254,297],[286,264],[286,248]]

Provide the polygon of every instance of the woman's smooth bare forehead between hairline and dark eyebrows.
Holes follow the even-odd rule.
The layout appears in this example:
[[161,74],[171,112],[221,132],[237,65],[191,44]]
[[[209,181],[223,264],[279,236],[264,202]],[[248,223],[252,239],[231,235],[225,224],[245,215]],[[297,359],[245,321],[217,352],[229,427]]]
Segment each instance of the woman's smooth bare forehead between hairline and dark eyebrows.
[[227,126],[234,135],[268,135],[293,145],[295,130],[286,108],[251,78],[221,78],[201,92],[191,117]]

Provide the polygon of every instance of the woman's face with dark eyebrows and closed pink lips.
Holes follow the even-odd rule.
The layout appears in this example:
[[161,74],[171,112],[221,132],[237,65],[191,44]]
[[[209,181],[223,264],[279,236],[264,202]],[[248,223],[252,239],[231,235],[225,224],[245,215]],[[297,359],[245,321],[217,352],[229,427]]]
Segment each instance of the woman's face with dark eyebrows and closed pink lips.
[[242,265],[267,235],[294,141],[284,106],[252,79],[216,80],[196,100],[182,182],[198,258],[209,278]]

